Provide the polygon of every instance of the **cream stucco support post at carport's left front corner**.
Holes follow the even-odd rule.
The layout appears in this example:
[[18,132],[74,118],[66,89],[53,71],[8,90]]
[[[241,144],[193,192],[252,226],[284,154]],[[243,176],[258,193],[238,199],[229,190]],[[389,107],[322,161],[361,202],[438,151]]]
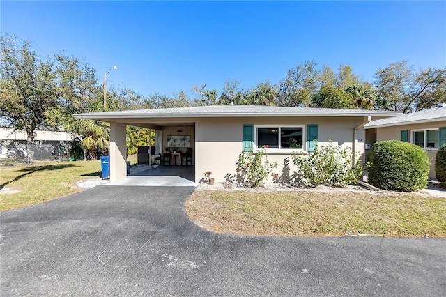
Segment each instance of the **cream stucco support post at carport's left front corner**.
[[110,181],[121,181],[127,176],[127,125],[110,123]]

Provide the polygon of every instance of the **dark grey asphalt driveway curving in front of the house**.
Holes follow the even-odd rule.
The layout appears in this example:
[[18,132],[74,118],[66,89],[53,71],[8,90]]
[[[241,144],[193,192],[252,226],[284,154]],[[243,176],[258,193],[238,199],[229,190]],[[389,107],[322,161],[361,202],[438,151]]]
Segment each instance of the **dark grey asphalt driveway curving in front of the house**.
[[96,188],[0,214],[1,296],[445,296],[446,238],[215,234],[192,187]]

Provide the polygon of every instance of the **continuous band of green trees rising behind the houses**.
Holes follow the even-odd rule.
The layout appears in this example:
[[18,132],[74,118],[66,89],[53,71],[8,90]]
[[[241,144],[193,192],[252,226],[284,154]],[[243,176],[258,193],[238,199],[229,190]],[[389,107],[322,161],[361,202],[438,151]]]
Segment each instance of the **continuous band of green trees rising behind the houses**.
[[[25,130],[33,142],[36,129],[65,128],[82,139],[91,158],[107,151],[105,128],[74,119],[72,114],[104,111],[103,85],[95,69],[83,59],[63,53],[42,57],[30,43],[3,34],[0,38],[0,119],[2,125]],[[287,71],[279,84],[259,82],[249,89],[239,80],[226,81],[222,91],[206,84],[170,96],[109,88],[106,110],[156,109],[197,105],[277,105],[343,109],[390,109],[415,112],[446,102],[446,68],[415,70],[407,61],[376,70],[373,82],[364,81],[349,65],[337,70],[306,61]],[[148,132],[130,129],[130,151]]]

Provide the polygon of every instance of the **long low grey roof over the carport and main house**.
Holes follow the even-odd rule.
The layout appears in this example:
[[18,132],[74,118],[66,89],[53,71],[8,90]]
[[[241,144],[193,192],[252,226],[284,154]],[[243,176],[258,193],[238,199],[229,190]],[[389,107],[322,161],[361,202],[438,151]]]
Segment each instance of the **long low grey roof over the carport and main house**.
[[144,118],[216,118],[256,116],[399,116],[401,112],[364,109],[331,109],[313,107],[277,107],[259,105],[210,105],[164,109],[125,110],[121,112],[89,112],[75,114],[77,119],[115,122]]

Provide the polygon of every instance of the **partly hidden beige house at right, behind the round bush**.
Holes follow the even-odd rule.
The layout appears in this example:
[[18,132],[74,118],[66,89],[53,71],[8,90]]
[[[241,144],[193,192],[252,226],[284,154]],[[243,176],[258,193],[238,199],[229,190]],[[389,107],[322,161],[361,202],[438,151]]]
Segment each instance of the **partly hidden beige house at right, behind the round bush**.
[[[382,140],[402,140],[424,148],[431,161],[429,178],[436,178],[435,157],[446,143],[446,104],[389,119],[371,121],[364,126],[366,144]],[[369,146],[367,146],[369,148]]]

